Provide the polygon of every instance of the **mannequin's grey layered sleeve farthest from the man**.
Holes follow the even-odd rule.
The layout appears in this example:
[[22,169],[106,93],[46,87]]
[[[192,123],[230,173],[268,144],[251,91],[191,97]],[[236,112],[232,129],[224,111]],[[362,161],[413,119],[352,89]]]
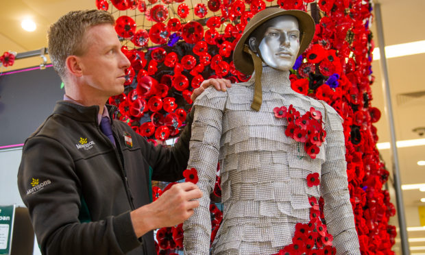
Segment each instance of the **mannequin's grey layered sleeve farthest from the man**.
[[345,140],[339,114],[326,105],[326,161],[321,168],[321,195],[328,232],[337,254],[360,254],[359,238],[348,192]]

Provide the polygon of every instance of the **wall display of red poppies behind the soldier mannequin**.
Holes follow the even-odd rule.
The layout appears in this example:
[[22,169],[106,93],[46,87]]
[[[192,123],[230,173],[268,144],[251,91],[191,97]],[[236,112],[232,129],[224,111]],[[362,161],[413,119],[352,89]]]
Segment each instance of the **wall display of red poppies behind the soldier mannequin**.
[[[270,6],[311,12],[315,36],[291,70],[291,87],[326,101],[343,118],[348,189],[361,252],[393,254],[396,228],[388,221],[396,210],[383,190],[389,173],[380,161],[373,125],[380,111],[372,107],[370,88],[372,1],[96,0],[96,6],[116,16],[121,50],[132,63],[125,93],[109,102],[118,106],[117,118],[152,143],[179,135],[191,110],[191,93],[202,81],[250,78],[234,68],[232,51],[256,12]],[[161,193],[154,187],[153,198]],[[218,176],[214,193],[220,196]],[[215,204],[210,211],[215,233],[222,216]],[[181,226],[158,230],[158,254],[182,250],[182,232]]]

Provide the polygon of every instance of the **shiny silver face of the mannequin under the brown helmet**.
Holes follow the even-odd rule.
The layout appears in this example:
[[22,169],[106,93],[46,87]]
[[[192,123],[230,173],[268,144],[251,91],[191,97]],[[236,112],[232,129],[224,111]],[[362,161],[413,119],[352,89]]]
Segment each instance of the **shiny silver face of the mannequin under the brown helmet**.
[[265,64],[287,71],[295,64],[300,50],[298,20],[289,15],[270,19],[256,29],[249,44]]

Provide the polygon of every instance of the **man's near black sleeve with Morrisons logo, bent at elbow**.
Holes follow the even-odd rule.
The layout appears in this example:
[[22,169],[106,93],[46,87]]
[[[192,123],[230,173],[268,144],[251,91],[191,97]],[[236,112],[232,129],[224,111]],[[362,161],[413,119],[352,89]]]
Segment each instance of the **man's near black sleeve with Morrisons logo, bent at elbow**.
[[42,254],[125,254],[141,245],[130,212],[80,222],[81,184],[73,169],[58,141],[37,136],[25,142],[18,186]]

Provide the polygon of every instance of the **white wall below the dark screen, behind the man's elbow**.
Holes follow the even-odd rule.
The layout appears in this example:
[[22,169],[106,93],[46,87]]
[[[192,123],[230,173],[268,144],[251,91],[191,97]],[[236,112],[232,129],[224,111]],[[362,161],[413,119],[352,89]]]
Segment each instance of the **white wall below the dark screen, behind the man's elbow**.
[[[17,175],[21,162],[22,148],[0,150],[0,204],[25,206],[19,195]],[[34,255],[41,255],[37,241],[34,241]]]

